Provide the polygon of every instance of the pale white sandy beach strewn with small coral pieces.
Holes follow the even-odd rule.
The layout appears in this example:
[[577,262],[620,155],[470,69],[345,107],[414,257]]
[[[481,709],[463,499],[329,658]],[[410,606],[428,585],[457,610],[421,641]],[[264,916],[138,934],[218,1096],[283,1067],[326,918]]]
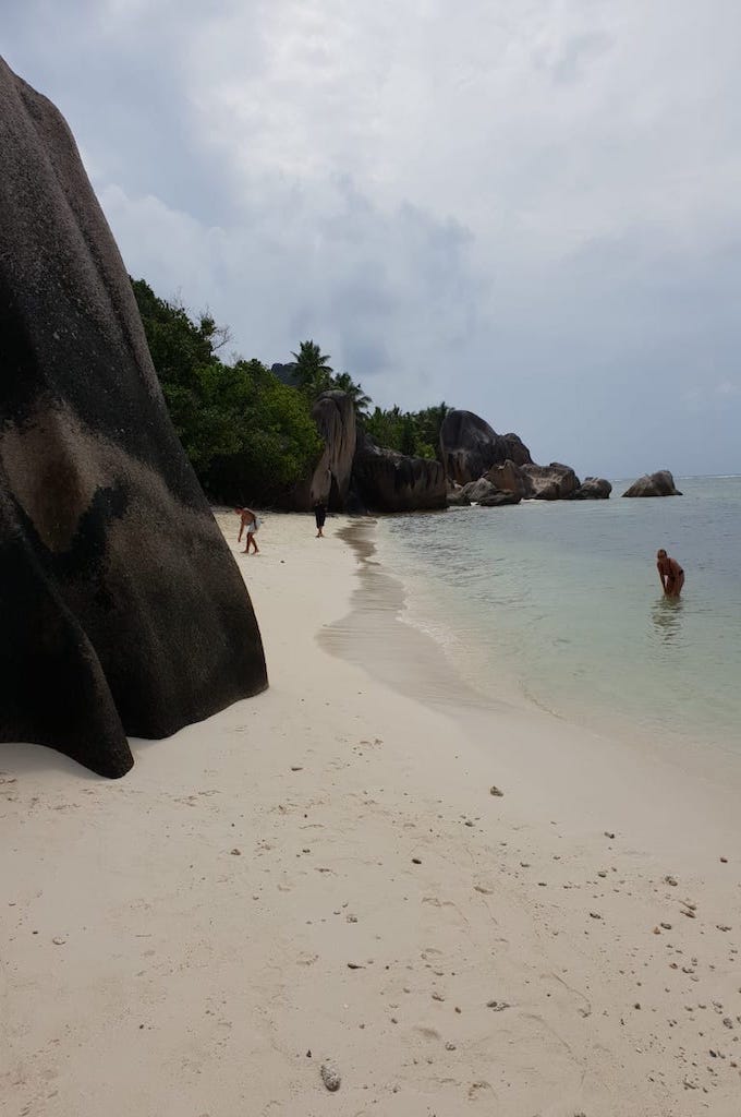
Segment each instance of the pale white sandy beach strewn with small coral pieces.
[[347,523],[238,555],[266,694],[0,746],[3,1115],[738,1117],[741,764],[470,700]]

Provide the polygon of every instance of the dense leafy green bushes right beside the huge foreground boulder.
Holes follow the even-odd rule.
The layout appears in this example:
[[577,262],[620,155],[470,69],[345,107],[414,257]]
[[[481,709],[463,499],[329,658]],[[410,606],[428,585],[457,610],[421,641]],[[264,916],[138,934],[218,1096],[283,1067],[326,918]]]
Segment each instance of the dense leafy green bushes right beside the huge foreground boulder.
[[283,503],[323,449],[306,394],[259,361],[222,362],[224,332],[209,315],[194,323],[143,279],[133,288],[170,414],[205,491]]

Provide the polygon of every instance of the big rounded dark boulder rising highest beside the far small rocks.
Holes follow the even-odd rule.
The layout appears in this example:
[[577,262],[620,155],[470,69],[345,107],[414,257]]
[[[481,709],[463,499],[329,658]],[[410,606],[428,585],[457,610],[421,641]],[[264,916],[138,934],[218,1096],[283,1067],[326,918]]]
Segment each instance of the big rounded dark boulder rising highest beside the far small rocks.
[[508,459],[518,466],[532,460],[517,435],[498,435],[472,411],[448,412],[440,428],[440,449],[445,472],[459,485],[478,480]]

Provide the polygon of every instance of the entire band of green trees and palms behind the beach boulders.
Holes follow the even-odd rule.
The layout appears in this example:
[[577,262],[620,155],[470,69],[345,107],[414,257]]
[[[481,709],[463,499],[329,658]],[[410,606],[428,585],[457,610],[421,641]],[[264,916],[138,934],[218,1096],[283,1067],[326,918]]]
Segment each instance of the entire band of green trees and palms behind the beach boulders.
[[323,441],[311,405],[327,390],[346,392],[360,428],[378,445],[435,458],[446,403],[422,411],[372,409],[373,401],[348,372],[308,340],[279,380],[261,361],[219,355],[229,331],[210,313],[191,318],[177,303],[132,279],[150,353],[177,436],[205,493],[216,500],[278,505],[315,468]]

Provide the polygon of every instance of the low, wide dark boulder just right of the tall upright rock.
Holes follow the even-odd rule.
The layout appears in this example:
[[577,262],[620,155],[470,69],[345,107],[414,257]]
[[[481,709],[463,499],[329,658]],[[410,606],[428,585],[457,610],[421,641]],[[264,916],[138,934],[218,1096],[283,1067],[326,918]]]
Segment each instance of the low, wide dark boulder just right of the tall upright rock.
[[369,512],[422,512],[448,504],[445,470],[439,461],[382,449],[365,433],[358,433],[353,489]]

